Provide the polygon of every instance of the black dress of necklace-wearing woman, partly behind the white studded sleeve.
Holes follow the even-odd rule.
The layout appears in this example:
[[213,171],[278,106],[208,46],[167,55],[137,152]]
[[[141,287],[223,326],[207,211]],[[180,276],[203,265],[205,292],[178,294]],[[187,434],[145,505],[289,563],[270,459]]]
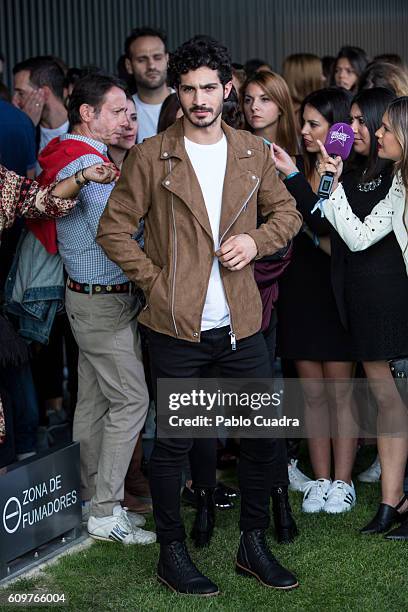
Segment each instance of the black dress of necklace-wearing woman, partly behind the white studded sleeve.
[[[343,187],[354,214],[362,221],[387,195],[392,176],[390,172],[382,176],[373,191],[360,191],[357,181],[355,173],[346,175]],[[407,356],[408,277],[394,232],[364,251],[344,250],[344,303],[358,360]]]

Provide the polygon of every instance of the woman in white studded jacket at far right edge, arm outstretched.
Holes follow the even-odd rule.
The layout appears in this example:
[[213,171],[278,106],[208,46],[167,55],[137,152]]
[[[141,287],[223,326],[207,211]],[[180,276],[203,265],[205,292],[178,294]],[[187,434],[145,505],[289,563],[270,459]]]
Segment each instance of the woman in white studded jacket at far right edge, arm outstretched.
[[[340,158],[330,159],[322,147],[323,163],[320,172],[335,173],[335,191],[323,205],[326,218],[337,230],[351,251],[364,251],[372,245],[389,240],[394,231],[395,238],[401,249],[401,258],[394,261],[390,272],[400,274],[400,283],[396,285],[387,282],[389,304],[394,304],[395,298],[406,294],[408,273],[408,233],[407,233],[407,193],[408,193],[408,97],[397,98],[385,112],[382,125],[376,132],[378,140],[378,156],[394,162],[394,179],[386,197],[379,201],[369,215],[362,220],[354,214],[348,202],[347,193],[343,187],[337,188],[337,180],[342,173]],[[380,242],[381,241],[381,242]],[[377,247],[374,247],[377,248]],[[396,247],[398,248],[398,247]],[[371,251],[371,249],[370,249]],[[404,267],[405,262],[405,267]],[[399,268],[401,269],[399,271]],[[404,276],[404,279],[402,279]],[[381,285],[385,278],[377,274],[377,283]],[[388,279],[387,279],[388,280]],[[402,286],[401,286],[401,283]],[[369,298],[368,298],[369,299]],[[398,316],[395,308],[390,305],[384,309],[384,321],[379,318],[377,325],[382,329],[385,320],[394,315],[392,334],[392,354],[387,359],[407,357],[407,318],[408,311],[404,309]],[[373,326],[375,335],[375,326]],[[375,336],[374,336],[375,337]],[[405,343],[405,348],[404,348]],[[369,369],[367,369],[367,366]],[[367,378],[375,379],[372,391],[378,405],[378,451],[381,463],[382,502],[372,521],[361,532],[364,534],[383,533],[394,523],[402,525],[386,536],[392,540],[408,540],[408,497],[404,495],[403,481],[408,458],[408,412],[407,406],[400,397],[397,386],[391,378],[387,360],[376,360],[365,363]],[[404,372],[403,372],[404,373]],[[407,376],[407,372],[405,372]],[[389,435],[390,423],[397,425],[397,432]]]

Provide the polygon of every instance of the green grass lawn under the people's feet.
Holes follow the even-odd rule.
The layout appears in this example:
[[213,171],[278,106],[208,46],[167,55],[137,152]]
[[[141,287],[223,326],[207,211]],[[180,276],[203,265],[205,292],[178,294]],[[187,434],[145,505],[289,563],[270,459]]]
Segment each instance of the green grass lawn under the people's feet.
[[[373,459],[373,448],[360,453],[356,472]],[[40,576],[20,580],[7,592],[44,589],[65,593],[66,610],[178,611],[404,611],[408,608],[408,544],[388,542],[381,536],[360,536],[358,528],[374,514],[378,485],[357,485],[357,506],[340,516],[306,515],[300,511],[301,495],[291,494],[300,536],[292,545],[276,545],[273,527],[271,548],[298,577],[300,587],[290,592],[267,589],[255,579],[234,571],[238,543],[238,510],[219,511],[211,546],[196,551],[198,567],[217,582],[218,597],[200,599],[177,596],[158,584],[155,569],[158,545],[124,547],[97,542],[91,548],[62,558]],[[187,528],[194,511],[184,509]],[[148,527],[153,528],[150,519]],[[9,610],[10,607],[0,607]],[[30,607],[52,610],[51,607]]]

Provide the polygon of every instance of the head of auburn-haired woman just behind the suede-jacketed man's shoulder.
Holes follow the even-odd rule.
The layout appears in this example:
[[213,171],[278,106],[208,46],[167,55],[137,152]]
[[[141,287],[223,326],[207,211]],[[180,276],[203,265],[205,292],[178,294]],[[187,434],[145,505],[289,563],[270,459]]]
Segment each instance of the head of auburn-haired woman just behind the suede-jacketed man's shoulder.
[[296,155],[295,113],[289,88],[279,74],[256,72],[250,76],[242,86],[241,103],[249,131]]

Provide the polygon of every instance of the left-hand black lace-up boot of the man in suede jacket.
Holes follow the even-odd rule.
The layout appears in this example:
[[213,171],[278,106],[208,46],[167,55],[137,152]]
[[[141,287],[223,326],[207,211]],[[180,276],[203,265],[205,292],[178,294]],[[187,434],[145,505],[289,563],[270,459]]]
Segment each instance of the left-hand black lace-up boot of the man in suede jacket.
[[160,545],[157,578],[175,593],[202,597],[219,593],[217,585],[198,571],[184,542]]

